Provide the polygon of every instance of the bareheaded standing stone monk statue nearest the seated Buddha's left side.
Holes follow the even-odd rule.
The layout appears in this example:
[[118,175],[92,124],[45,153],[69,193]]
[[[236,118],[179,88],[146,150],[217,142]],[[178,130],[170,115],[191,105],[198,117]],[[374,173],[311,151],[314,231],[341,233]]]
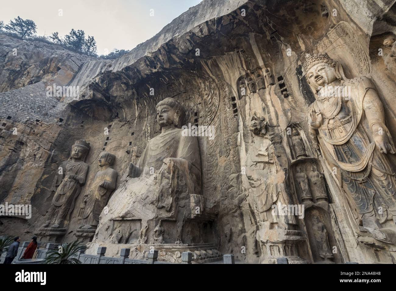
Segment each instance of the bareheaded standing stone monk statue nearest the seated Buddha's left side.
[[99,223],[99,215],[105,208],[110,194],[116,188],[117,172],[112,169],[115,156],[107,151],[99,155],[99,170],[86,198],[81,229],[95,229]]

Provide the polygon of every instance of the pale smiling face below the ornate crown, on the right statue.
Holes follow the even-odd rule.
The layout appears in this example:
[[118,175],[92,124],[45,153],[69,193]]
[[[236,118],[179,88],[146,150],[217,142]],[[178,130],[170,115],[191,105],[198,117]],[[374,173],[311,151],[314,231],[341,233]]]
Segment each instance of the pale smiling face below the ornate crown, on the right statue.
[[318,91],[320,86],[324,87],[337,79],[335,64],[316,64],[308,70],[306,76],[308,83]]

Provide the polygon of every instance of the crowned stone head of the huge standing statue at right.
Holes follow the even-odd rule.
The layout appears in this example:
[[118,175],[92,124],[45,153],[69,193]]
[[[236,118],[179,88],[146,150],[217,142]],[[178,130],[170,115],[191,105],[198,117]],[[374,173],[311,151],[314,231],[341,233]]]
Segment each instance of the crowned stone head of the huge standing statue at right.
[[335,80],[345,80],[343,69],[339,62],[325,54],[307,55],[303,64],[307,83],[316,94],[321,87]]

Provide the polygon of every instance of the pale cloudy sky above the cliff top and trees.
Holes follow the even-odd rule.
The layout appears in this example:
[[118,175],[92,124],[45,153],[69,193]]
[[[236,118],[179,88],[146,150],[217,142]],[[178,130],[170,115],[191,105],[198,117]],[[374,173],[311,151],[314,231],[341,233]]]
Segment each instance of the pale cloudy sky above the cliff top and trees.
[[[20,16],[36,23],[37,34],[63,37],[72,28],[93,36],[98,55],[133,49],[201,0],[1,0],[0,21]],[[62,9],[62,10],[59,10]],[[153,9],[153,10],[150,10]],[[154,16],[150,16],[154,14]],[[60,15],[62,14],[62,15]]]

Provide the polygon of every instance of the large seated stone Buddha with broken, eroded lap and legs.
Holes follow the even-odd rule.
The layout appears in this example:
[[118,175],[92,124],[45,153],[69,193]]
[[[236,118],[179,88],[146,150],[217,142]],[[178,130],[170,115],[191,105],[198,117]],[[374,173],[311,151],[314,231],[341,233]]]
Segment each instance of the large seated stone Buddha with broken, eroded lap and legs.
[[[109,212],[101,214],[98,240],[107,239],[101,233],[109,221],[133,217],[142,220],[139,230],[149,219],[175,221],[175,240],[181,243],[184,221],[199,214],[197,207],[202,211],[200,150],[197,137],[181,129],[185,108],[165,98],[156,109],[161,133],[148,141],[139,161],[129,165],[107,204]],[[133,230],[124,231],[128,237]]]

